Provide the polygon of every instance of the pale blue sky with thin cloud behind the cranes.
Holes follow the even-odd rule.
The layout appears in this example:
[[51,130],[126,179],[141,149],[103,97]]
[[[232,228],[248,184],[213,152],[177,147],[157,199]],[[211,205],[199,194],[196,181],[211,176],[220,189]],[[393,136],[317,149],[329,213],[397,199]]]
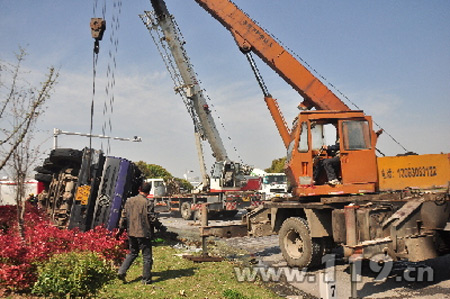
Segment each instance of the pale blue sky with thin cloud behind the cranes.
[[[18,46],[29,53],[28,80],[39,82],[48,66],[59,69],[55,93],[39,122],[43,149],[52,147],[53,128],[88,132],[92,99],[89,21],[93,3],[101,17],[104,1],[0,0],[0,59],[13,61]],[[192,122],[138,14],[150,1],[122,1],[120,15],[108,1],[107,31],[97,66],[94,133],[105,121],[111,136],[141,136],[142,143],[111,142],[110,155],[160,164],[176,176],[198,174]],[[202,87],[231,158],[259,168],[285,155],[245,57],[231,35],[193,0],[166,0],[186,40]],[[236,0],[235,3],[352,102],[372,115],[408,150],[450,152],[450,2]],[[120,27],[112,30],[112,15]],[[109,37],[114,32],[117,53]],[[104,116],[107,67],[116,59],[114,111]],[[271,94],[286,119],[301,101],[290,86],[257,60]],[[342,98],[342,97],[341,97]],[[345,100],[344,100],[345,101]],[[348,103],[347,103],[348,104]],[[349,104],[351,106],[351,104]],[[231,139],[231,141],[230,141]],[[61,136],[62,147],[83,148],[86,137]],[[94,147],[107,148],[94,140]],[[386,135],[378,147],[402,152]],[[237,149],[237,151],[234,150]],[[209,154],[208,154],[209,157]],[[207,161],[211,164],[211,159]]]

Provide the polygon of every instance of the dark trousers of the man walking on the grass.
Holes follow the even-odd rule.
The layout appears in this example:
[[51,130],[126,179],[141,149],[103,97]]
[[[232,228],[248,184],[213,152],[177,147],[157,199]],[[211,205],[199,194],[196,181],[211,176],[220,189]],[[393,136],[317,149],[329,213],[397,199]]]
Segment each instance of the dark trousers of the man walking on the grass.
[[139,251],[142,251],[142,258],[144,260],[144,267],[142,270],[142,281],[150,282],[152,279],[152,243],[150,238],[136,238],[128,237],[130,253],[127,254],[125,260],[119,268],[119,274],[127,273],[128,268],[133,264],[138,257]]

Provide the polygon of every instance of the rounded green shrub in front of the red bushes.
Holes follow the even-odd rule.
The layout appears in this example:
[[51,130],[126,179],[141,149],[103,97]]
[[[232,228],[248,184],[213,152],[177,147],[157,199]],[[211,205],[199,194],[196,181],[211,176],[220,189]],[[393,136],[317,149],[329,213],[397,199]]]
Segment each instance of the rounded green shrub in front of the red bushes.
[[32,292],[53,298],[95,295],[114,277],[111,264],[93,252],[55,254],[38,267]]

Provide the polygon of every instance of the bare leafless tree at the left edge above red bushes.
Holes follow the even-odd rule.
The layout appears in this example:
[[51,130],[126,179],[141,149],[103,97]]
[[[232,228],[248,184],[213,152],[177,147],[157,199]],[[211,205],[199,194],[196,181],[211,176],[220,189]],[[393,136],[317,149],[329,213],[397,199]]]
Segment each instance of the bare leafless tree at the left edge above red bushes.
[[40,86],[31,86],[22,78],[22,63],[26,55],[26,51],[19,48],[15,64],[0,62],[0,170],[7,167],[8,173],[17,183],[16,204],[21,235],[25,211],[25,181],[39,155],[38,148],[32,146],[36,122],[45,112],[45,103],[50,98],[58,77],[55,69],[50,67]]

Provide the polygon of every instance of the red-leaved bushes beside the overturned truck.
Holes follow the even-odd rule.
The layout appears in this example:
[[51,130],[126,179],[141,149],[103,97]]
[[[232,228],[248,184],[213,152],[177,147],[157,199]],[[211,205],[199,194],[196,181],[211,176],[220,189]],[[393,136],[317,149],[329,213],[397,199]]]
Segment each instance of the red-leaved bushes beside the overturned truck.
[[87,232],[59,229],[28,206],[22,240],[16,218],[15,207],[0,206],[0,290],[28,291],[37,280],[37,266],[57,253],[92,251],[114,264],[126,255],[126,236],[116,240],[104,227]]

